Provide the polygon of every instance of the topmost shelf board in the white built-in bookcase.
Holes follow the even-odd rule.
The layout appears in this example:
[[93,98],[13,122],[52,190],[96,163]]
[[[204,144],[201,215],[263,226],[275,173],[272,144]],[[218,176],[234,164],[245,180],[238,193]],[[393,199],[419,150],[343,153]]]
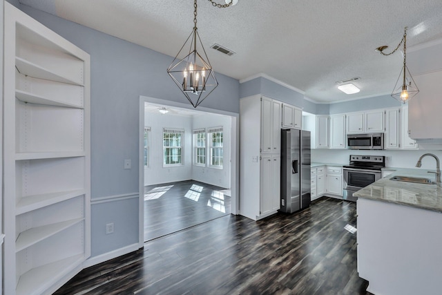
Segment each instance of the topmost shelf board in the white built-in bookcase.
[[33,64],[32,62],[27,61],[26,59],[22,59],[21,57],[15,57],[15,66],[17,66],[19,73],[23,75],[28,75],[31,77],[55,81],[55,82],[73,84],[77,86],[84,86],[82,82],[74,81],[73,79],[69,79],[61,75],[58,75],[56,73],[53,73],[52,71],[43,68],[41,66],[37,66],[37,64]]

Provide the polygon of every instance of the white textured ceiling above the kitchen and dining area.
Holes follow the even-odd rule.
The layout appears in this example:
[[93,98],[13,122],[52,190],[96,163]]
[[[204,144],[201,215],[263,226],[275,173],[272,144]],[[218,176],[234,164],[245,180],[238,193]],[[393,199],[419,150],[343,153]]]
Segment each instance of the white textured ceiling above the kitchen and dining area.
[[[20,2],[171,57],[193,28],[192,0]],[[198,1],[198,32],[215,72],[240,81],[265,74],[316,102],[390,94],[403,57],[374,49],[387,45],[390,52],[405,26],[407,48],[441,39],[442,1],[239,0],[221,9]],[[236,54],[209,48],[215,43]],[[361,92],[338,91],[336,82],[352,77],[361,77],[354,82]]]

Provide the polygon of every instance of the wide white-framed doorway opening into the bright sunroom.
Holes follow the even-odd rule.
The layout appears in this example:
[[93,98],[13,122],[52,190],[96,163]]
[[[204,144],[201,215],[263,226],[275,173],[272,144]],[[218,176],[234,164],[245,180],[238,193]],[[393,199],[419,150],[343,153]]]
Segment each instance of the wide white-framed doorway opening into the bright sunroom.
[[237,122],[140,97],[140,242],[237,213]]

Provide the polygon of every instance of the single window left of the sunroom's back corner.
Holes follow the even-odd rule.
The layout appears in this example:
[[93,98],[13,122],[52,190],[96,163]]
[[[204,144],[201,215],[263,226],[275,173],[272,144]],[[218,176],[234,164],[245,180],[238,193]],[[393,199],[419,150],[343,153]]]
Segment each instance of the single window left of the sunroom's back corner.
[[163,129],[163,166],[181,166],[184,129]]

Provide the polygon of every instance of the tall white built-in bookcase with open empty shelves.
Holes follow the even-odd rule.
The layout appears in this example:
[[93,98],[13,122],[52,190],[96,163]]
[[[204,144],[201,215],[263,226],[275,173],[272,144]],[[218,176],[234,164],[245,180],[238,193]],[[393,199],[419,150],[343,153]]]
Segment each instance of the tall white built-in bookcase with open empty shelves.
[[90,256],[90,57],[4,2],[4,294],[50,294]]

